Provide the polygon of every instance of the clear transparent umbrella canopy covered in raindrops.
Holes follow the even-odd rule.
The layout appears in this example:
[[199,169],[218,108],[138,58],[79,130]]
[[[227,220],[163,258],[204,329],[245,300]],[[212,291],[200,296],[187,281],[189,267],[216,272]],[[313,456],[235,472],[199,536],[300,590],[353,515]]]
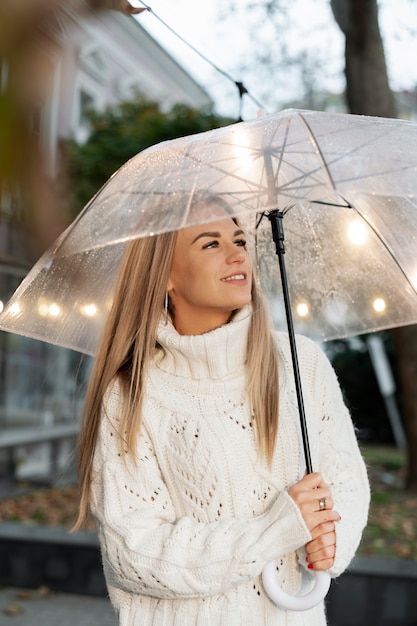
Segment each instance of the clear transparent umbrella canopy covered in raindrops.
[[94,354],[127,242],[219,219],[190,210],[202,192],[256,240],[278,328],[279,268],[259,219],[275,210],[296,331],[326,340],[417,322],[417,124],[286,110],[133,157],[34,266],[0,328]]

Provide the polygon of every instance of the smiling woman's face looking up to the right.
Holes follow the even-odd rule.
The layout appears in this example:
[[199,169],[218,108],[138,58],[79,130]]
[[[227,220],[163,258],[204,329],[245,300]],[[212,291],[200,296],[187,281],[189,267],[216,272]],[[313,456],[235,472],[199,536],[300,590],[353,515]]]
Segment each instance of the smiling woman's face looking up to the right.
[[231,218],[179,231],[167,289],[180,334],[222,326],[251,301],[251,288],[245,235]]

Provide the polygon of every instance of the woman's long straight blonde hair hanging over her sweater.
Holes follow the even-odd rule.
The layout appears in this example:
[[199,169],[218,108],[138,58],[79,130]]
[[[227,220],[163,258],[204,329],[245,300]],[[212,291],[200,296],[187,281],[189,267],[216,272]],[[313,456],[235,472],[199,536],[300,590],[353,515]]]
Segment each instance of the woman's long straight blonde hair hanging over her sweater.
[[[83,411],[79,439],[80,508],[73,531],[89,519],[92,463],[104,394],[117,377],[123,392],[120,432],[132,457],[141,425],[145,371],[156,348],[177,233],[136,239],[125,253],[113,306],[107,320]],[[259,453],[271,462],[278,432],[278,355],[271,335],[268,305],[252,284],[253,314],[247,343],[247,393],[255,416]]]

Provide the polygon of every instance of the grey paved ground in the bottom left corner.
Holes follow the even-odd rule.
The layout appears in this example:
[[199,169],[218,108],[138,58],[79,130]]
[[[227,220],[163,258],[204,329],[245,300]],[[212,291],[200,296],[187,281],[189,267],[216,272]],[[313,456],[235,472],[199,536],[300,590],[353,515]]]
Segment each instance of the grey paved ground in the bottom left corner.
[[105,598],[92,598],[42,590],[0,590],[2,626],[117,626]]

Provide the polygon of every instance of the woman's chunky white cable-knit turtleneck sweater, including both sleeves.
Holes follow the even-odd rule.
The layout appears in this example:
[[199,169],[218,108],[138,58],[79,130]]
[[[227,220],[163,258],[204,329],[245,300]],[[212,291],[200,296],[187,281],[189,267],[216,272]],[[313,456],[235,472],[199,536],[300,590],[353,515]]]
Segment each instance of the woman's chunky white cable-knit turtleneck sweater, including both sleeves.
[[[250,311],[226,326],[181,336],[161,324],[149,369],[138,458],[119,448],[119,390],[109,391],[94,459],[92,510],[121,626],[322,626],[323,603],[277,608],[260,574],[272,559],[280,584],[306,591],[310,539],[288,487],[304,472],[287,336],[280,355],[279,433],[272,467],[257,456],[245,397]],[[330,485],[337,524],[331,570],[349,564],[366,523],[369,488],[335,374],[297,338],[314,469]],[[271,382],[271,384],[273,384]]]

